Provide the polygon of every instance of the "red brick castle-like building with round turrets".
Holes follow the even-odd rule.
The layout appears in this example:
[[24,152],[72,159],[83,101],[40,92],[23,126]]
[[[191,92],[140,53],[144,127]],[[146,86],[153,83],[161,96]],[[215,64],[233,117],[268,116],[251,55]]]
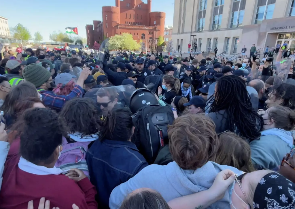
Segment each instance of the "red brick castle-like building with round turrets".
[[165,12],[151,12],[151,0],[148,0],[148,4],[141,0],[115,1],[116,6],[102,7],[102,22],[93,21],[94,26],[86,26],[89,48],[94,41],[101,43],[106,38],[122,33],[130,33],[134,40],[142,40],[148,49],[155,48],[156,39],[164,34]]

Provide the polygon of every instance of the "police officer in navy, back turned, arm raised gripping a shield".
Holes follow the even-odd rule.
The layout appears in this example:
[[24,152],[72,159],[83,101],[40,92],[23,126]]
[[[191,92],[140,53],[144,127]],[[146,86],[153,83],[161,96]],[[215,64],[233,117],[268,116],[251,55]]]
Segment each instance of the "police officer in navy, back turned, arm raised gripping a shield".
[[113,72],[106,66],[106,61],[103,63],[103,70],[108,75],[108,80],[113,83],[115,86],[120,86],[122,84],[122,81],[124,79],[128,78],[125,71],[125,64],[122,62],[119,62],[115,66],[117,72]]

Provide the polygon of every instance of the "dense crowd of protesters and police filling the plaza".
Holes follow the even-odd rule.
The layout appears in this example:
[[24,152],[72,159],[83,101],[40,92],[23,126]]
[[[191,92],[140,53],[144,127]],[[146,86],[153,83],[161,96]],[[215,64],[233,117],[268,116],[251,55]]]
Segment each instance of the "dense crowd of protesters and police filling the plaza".
[[[294,208],[294,58],[242,51],[233,62],[5,49],[0,208]],[[152,163],[134,140],[150,133],[131,108],[142,89],[173,113]]]

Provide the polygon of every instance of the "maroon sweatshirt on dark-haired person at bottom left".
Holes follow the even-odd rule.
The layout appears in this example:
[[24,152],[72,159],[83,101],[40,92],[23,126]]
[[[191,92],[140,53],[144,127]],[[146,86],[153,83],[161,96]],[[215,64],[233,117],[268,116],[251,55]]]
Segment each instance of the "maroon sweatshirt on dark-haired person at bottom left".
[[3,172],[1,209],[27,209],[30,200],[34,200],[34,208],[38,208],[42,197],[50,200],[50,208],[71,209],[75,203],[80,209],[97,209],[96,190],[88,178],[76,183],[63,174],[27,173],[18,168],[19,145],[15,143],[19,140],[12,143]]

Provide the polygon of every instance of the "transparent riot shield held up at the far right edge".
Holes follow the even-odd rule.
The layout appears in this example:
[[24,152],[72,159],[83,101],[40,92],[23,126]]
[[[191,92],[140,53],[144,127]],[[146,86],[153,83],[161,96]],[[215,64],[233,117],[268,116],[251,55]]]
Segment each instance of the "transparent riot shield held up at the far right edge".
[[273,81],[273,89],[276,89],[282,83],[286,83],[289,71],[291,69],[291,63],[291,59],[284,59],[283,61],[277,64],[276,75]]

